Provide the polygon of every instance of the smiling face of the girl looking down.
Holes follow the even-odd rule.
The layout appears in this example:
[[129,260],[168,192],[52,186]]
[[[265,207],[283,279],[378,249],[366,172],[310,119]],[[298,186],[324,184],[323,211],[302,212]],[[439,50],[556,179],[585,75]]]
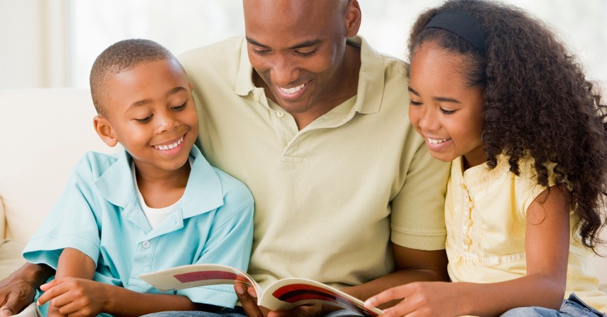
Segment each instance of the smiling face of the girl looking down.
[[483,90],[467,85],[465,61],[431,42],[417,48],[409,72],[409,118],[434,158],[463,156],[469,168],[485,162]]

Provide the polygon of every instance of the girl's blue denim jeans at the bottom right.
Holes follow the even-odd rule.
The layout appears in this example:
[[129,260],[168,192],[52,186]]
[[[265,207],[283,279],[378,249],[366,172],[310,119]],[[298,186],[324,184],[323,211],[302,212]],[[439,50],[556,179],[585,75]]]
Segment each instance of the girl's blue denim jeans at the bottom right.
[[520,307],[510,309],[502,317],[607,317],[606,314],[588,306],[575,294],[565,299],[558,311],[543,307]]

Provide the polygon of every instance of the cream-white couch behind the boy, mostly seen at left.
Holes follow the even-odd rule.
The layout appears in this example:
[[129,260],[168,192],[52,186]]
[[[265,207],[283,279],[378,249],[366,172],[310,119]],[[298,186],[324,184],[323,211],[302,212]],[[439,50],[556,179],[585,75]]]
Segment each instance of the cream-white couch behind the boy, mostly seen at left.
[[[88,90],[0,90],[0,278],[23,264],[23,243],[82,154],[116,151],[95,134],[94,116]],[[595,264],[607,291],[607,259],[597,257]]]

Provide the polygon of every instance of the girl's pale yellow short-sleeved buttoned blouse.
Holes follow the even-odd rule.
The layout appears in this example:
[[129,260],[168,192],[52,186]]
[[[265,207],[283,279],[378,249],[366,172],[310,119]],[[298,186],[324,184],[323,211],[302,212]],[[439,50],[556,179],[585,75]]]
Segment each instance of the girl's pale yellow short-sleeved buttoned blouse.
[[[520,176],[510,173],[504,158],[493,170],[481,164],[464,173],[461,157],[453,161],[445,203],[451,280],[488,283],[525,276],[527,208],[544,189],[536,184],[531,161],[520,164]],[[572,231],[576,220],[571,213]],[[607,294],[598,291],[598,277],[588,260],[593,253],[576,232],[570,241],[565,297],[573,291],[607,312]]]

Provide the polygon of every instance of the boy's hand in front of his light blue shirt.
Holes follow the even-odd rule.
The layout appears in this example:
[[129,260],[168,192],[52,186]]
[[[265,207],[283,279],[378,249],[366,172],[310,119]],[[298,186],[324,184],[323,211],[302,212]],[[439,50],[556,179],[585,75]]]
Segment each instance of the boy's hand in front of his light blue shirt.
[[38,305],[50,301],[62,315],[97,316],[107,303],[104,284],[90,279],[65,277],[53,279],[40,286],[45,293],[38,298]]

